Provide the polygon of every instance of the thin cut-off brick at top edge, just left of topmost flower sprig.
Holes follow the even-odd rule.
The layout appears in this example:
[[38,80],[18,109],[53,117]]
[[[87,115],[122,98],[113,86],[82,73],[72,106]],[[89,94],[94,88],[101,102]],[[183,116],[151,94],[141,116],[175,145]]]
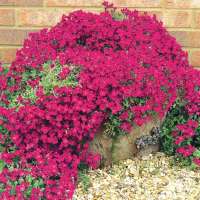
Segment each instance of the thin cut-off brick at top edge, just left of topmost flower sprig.
[[102,6],[102,0],[46,0],[47,6]]

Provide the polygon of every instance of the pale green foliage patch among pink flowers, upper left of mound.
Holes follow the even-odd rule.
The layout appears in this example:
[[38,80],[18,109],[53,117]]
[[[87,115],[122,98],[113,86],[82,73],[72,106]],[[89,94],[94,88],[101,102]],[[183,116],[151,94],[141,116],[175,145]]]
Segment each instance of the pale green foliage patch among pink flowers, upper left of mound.
[[[52,65],[54,65],[52,67]],[[34,104],[37,100],[36,91],[37,87],[31,87],[27,84],[30,80],[40,79],[39,86],[42,86],[44,89],[44,93],[46,95],[50,95],[53,93],[53,90],[56,86],[58,87],[76,87],[78,85],[77,75],[80,73],[80,67],[73,67],[73,69],[68,74],[67,78],[61,80],[59,78],[59,73],[62,70],[62,65],[56,61],[52,63],[51,61],[44,63],[43,70],[40,71],[34,68],[26,68],[26,71],[22,74],[22,81],[19,90],[10,92],[5,91],[9,99],[9,108],[16,108],[16,110],[22,106],[22,104],[18,101],[18,98],[21,96],[24,100],[29,100],[32,104]],[[5,69],[6,73],[6,69]],[[9,86],[15,85],[15,80],[12,78],[8,78],[7,83]]]

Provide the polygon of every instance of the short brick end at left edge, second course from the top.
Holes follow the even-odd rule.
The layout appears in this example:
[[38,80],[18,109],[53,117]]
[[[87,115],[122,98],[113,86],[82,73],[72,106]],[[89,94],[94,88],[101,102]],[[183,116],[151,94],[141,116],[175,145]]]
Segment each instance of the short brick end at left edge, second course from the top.
[[13,9],[0,9],[0,25],[14,25],[15,11]]

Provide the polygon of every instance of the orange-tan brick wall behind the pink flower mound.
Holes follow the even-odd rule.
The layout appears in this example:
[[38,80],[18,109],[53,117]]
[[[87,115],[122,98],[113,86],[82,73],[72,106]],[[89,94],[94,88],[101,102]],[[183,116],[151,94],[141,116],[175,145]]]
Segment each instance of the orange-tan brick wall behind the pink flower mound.
[[[200,0],[110,0],[118,7],[154,13],[200,69]],[[75,9],[102,11],[102,0],[0,0],[0,60],[11,62],[28,32],[50,27]]]

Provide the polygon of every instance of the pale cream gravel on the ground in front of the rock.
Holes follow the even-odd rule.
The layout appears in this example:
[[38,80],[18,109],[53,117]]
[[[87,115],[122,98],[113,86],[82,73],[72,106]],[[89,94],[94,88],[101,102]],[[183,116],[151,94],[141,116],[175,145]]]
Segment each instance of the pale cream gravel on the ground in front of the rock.
[[163,153],[90,170],[74,200],[200,200],[200,170],[172,164]]

